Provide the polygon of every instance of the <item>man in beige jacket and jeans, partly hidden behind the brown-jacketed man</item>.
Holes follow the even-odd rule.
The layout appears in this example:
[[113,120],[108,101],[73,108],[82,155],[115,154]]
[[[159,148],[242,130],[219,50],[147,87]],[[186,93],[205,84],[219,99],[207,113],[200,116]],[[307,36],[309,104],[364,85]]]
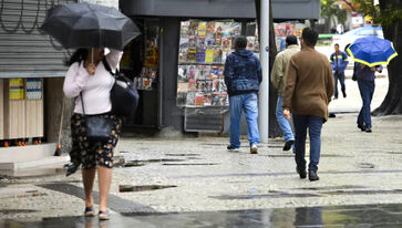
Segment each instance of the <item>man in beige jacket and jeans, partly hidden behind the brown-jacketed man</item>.
[[278,102],[277,102],[277,121],[280,129],[284,133],[285,146],[284,151],[289,151],[295,143],[293,132],[290,126],[290,122],[284,116],[284,93],[286,85],[286,76],[288,73],[288,65],[290,58],[299,52],[297,38],[295,35],[288,35],[286,38],[286,50],[277,54],[274,62],[271,82],[274,87],[278,90]]

